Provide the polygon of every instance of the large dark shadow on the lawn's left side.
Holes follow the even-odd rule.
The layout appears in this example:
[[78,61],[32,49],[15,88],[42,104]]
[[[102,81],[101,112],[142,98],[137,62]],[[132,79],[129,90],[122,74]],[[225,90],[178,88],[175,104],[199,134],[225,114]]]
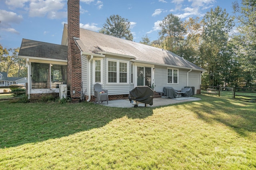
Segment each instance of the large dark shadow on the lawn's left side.
[[0,148],[16,147],[103,127],[127,116],[144,119],[152,107],[116,108],[92,103],[0,103]]

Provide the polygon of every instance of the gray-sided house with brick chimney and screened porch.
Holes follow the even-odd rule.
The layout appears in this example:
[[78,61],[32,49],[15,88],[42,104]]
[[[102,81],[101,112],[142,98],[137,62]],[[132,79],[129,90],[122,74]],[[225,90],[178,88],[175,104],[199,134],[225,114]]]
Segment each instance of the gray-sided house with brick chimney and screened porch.
[[109,100],[127,98],[136,86],[200,89],[204,69],[164,49],[82,29],[79,15],[79,0],[68,0],[61,45],[22,39],[18,56],[28,66],[29,98],[58,92],[59,84],[72,98],[82,87],[87,101],[94,100],[95,83],[108,89]]

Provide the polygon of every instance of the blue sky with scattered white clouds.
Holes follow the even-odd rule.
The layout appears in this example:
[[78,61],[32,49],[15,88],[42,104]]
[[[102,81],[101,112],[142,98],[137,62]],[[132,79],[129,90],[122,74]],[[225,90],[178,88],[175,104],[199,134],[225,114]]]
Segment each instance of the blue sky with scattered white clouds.
[[[106,18],[118,14],[131,22],[134,40],[158,39],[159,22],[172,13],[202,19],[220,6],[232,15],[234,0],[80,0],[80,27],[99,31]],[[240,0],[238,0],[240,3]],[[67,0],[0,0],[0,44],[20,47],[22,38],[60,44],[67,23]]]

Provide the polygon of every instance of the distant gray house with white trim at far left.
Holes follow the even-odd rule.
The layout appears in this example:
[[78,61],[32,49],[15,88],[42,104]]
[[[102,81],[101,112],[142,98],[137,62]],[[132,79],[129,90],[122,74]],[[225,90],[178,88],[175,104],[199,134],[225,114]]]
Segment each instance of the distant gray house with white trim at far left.
[[0,72],[0,86],[10,86],[12,84],[25,85],[28,82],[26,77],[8,77],[6,72]]

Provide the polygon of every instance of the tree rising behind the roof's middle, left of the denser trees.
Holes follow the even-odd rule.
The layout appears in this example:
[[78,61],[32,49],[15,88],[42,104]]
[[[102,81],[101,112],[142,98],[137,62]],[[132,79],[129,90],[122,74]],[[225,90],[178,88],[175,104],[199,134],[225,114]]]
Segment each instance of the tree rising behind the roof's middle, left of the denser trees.
[[159,26],[162,28],[159,35],[163,40],[163,48],[176,53],[186,34],[182,20],[174,14],[168,14]]

